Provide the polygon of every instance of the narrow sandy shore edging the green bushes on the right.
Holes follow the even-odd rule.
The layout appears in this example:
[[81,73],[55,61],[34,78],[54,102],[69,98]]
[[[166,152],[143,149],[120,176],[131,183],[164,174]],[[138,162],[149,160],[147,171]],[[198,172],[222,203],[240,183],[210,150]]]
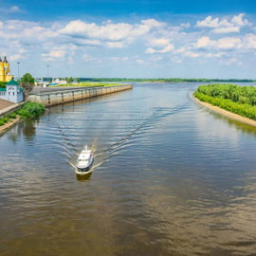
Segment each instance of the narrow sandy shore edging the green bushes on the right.
[[210,110],[212,110],[215,113],[221,114],[229,119],[234,119],[237,121],[241,121],[243,123],[246,123],[248,125],[254,126],[256,127],[256,121],[253,119],[247,119],[245,117],[242,117],[240,115],[234,114],[232,112],[229,112],[228,110],[222,109],[220,107],[217,106],[213,106],[208,102],[204,102],[204,101],[199,101],[197,98],[193,97],[194,101],[196,101],[198,104],[203,105],[206,108],[209,108]]

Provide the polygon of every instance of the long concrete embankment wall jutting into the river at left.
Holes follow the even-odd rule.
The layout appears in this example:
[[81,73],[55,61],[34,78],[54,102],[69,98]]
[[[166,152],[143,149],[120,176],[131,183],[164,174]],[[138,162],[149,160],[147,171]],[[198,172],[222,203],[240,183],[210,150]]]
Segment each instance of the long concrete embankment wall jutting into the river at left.
[[117,86],[99,86],[99,87],[81,87],[79,89],[52,91],[48,93],[39,93],[30,95],[29,101],[42,103],[45,106],[62,104],[70,101],[79,101],[82,99],[97,97],[105,94],[115,93],[133,88],[132,84],[122,84]]

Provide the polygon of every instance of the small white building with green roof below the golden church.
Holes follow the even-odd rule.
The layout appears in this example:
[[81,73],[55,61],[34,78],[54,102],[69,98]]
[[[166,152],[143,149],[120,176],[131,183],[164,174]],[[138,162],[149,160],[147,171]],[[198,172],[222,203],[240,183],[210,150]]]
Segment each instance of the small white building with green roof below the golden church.
[[11,79],[11,81],[7,83],[6,88],[0,88],[0,99],[13,103],[24,101],[23,89],[18,82]]

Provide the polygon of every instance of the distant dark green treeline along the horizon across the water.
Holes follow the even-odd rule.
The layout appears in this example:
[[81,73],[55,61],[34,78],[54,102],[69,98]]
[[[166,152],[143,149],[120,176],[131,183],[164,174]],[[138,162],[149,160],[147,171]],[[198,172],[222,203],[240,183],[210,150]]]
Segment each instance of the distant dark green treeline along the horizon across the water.
[[[76,79],[77,80],[77,79]],[[79,78],[80,82],[256,82],[255,80],[220,79],[130,79],[130,78]]]

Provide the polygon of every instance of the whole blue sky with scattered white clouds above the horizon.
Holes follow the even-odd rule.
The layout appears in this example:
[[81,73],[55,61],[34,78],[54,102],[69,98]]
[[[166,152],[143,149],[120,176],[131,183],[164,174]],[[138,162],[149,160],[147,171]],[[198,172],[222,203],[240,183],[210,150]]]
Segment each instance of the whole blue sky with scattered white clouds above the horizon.
[[256,78],[254,1],[2,1],[11,73]]

